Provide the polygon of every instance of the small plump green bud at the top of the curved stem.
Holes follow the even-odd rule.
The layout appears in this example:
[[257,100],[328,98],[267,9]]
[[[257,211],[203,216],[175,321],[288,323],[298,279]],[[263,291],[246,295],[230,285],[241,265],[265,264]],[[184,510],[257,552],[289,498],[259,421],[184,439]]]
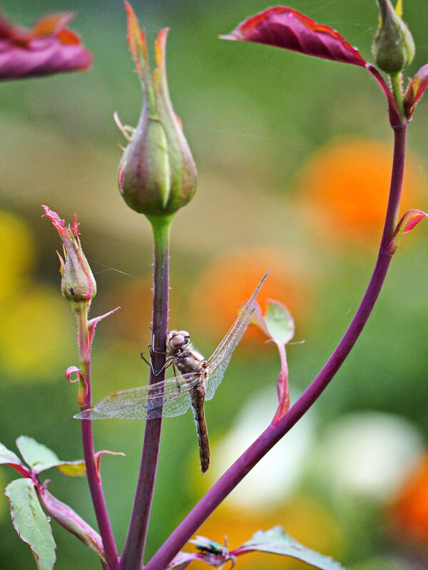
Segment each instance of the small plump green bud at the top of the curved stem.
[[[374,36],[372,53],[377,66],[386,73],[399,73],[409,66],[414,58],[414,41],[401,14],[390,0],[377,0],[379,26]],[[397,9],[401,12],[401,3]]]

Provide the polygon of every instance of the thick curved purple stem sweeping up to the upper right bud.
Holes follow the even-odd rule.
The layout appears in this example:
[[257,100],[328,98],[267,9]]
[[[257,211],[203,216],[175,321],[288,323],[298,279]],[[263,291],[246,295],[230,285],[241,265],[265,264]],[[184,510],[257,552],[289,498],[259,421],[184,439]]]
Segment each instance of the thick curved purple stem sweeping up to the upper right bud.
[[178,525],[173,534],[168,537],[161,548],[145,566],[144,570],[165,569],[174,556],[180,551],[185,543],[192,537],[205,519],[218,507],[220,502],[243,480],[245,475],[266,455],[266,453],[297,423],[302,415],[312,406],[320,394],[325,390],[335,373],[339,370],[345,358],[355,345],[362,329],[372,312],[374,303],[379,295],[384,282],[392,256],[387,254],[387,246],[392,238],[394,227],[397,224],[399,201],[402,191],[404,174],[404,158],[406,150],[407,125],[399,125],[394,128],[394,160],[392,165],[391,185],[389,187],[389,201],[387,215],[384,223],[384,231],[379,248],[379,254],[374,266],[370,283],[367,286],[361,304],[350,323],[342,340],[333,351],[332,355],[322,367],[322,370],[310,386],[300,396],[295,405],[277,423],[270,425],[248,447],[243,455],[220,477],[213,487],[190,513]]

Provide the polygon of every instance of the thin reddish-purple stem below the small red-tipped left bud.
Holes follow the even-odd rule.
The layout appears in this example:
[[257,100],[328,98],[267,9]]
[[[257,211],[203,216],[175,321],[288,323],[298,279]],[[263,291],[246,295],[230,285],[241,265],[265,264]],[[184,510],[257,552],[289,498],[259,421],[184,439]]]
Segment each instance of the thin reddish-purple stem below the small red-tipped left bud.
[[[83,408],[91,408],[91,349],[88,336],[88,312],[86,307],[78,309],[78,346],[81,372],[86,379],[86,402]],[[89,491],[91,492],[93,509],[95,511],[98,529],[104,546],[104,554],[108,564],[108,570],[118,568],[118,551],[111,530],[110,519],[106,502],[103,495],[101,477],[98,477],[95,461],[95,450],[93,447],[92,422],[81,421],[83,457],[86,465],[86,477],[88,479]]]

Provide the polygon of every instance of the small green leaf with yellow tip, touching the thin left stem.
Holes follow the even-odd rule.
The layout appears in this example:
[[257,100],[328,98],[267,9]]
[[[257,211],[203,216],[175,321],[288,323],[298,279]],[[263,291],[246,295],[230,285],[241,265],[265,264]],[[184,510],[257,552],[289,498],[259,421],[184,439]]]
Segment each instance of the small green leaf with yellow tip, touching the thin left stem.
[[46,445],[36,442],[33,437],[20,435],[16,440],[16,446],[34,473],[38,474],[51,469],[51,467],[58,467],[64,475],[69,477],[83,477],[85,475],[85,466],[82,460],[61,461],[56,453]]

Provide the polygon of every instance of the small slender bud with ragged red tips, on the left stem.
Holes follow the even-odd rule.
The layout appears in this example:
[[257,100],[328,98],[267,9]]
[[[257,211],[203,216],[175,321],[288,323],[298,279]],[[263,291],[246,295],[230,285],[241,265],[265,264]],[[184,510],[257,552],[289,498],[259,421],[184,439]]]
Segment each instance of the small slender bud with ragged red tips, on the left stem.
[[68,224],[66,227],[66,222],[56,212],[53,212],[47,206],[43,208],[45,211],[44,216],[51,219],[63,242],[64,257],[62,258],[58,254],[61,263],[62,294],[69,301],[72,309],[78,309],[82,305],[88,308],[96,295],[96,281],[88,260],[83,254],[78,237],[76,214],[74,214],[73,225]]

